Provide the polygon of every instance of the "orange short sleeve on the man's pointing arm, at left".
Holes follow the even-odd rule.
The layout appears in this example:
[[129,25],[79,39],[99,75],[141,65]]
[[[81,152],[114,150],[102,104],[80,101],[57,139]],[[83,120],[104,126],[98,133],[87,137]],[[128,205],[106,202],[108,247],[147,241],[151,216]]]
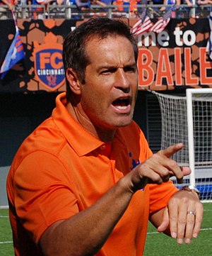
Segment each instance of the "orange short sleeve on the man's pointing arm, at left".
[[77,199],[66,168],[52,154],[33,152],[14,176],[18,217],[35,243],[52,223],[78,213]]

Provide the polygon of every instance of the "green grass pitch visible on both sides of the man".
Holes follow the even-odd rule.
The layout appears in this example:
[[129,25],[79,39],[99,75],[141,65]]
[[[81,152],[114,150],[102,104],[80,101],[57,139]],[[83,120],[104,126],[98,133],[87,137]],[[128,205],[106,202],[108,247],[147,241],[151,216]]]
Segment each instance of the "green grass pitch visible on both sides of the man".
[[[11,227],[8,210],[0,210],[0,255],[13,254]],[[212,204],[204,204],[204,221],[201,233],[190,245],[177,245],[176,240],[148,227],[144,256],[211,256],[212,255]],[[115,256],[115,255],[112,255]],[[130,256],[130,255],[129,255]]]

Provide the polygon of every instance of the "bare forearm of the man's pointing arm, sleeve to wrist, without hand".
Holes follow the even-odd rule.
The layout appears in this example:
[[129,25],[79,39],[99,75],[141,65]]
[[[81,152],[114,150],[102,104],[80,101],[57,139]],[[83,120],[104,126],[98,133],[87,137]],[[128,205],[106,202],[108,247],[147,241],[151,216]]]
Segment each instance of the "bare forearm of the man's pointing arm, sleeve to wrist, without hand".
[[42,235],[45,255],[95,255],[122,217],[133,193],[119,181],[93,206],[65,221],[54,223]]

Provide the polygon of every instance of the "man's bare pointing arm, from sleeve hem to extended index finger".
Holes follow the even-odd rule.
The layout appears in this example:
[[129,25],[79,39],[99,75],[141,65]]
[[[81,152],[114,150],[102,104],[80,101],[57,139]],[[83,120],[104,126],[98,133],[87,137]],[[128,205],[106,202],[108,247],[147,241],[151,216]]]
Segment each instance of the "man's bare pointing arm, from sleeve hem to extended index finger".
[[[68,220],[52,224],[40,239],[44,254],[95,255],[122,218],[137,190],[143,189],[148,183],[167,182],[170,175],[175,175],[179,181],[182,180],[182,169],[175,161],[169,159],[182,147],[182,143],[178,143],[160,150],[122,177],[93,206]],[[188,173],[185,172],[185,174]]]

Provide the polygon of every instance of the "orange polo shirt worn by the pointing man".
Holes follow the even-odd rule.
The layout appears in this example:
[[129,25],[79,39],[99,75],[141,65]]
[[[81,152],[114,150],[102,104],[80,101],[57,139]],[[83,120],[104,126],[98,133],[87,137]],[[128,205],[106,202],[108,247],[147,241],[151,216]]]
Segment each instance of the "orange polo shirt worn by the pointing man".
[[[124,174],[152,155],[133,121],[117,130],[108,157],[107,145],[70,116],[65,93],[57,96],[56,104],[52,116],[20,146],[8,173],[16,255],[41,255],[37,245],[52,223],[95,204]],[[142,255],[149,213],[165,207],[175,191],[172,182],[137,191],[97,255]]]

